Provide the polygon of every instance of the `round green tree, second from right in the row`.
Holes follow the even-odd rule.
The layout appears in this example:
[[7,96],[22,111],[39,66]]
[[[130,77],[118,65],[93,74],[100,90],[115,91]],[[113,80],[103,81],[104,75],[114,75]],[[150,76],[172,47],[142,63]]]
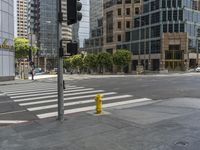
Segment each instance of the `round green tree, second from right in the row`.
[[104,73],[105,69],[110,69],[112,67],[112,55],[107,52],[99,53],[97,56],[97,63],[100,70]]

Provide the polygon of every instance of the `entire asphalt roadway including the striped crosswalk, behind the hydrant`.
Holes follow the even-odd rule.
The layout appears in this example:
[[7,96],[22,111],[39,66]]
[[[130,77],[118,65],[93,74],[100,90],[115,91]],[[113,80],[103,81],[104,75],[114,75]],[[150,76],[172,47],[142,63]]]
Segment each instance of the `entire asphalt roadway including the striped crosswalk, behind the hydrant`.
[[[71,76],[71,78],[74,76]],[[70,76],[65,76],[65,79]],[[65,114],[95,110],[95,96],[105,108],[170,98],[200,98],[200,74],[166,76],[78,76],[66,80]],[[0,126],[57,116],[56,79],[0,84]]]

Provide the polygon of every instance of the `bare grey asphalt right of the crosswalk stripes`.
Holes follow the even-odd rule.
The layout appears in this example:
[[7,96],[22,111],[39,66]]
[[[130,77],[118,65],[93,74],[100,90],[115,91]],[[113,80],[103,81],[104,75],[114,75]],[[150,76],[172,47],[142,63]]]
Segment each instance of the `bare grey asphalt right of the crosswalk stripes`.
[[200,74],[194,76],[126,76],[67,81],[69,84],[146,97],[153,100],[200,98]]

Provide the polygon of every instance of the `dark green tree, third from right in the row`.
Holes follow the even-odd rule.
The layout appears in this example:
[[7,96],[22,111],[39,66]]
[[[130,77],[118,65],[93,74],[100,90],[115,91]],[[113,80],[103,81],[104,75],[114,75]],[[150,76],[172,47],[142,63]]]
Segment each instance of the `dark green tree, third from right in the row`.
[[97,68],[97,55],[88,54],[84,58],[84,64],[88,69],[92,69],[93,71]]

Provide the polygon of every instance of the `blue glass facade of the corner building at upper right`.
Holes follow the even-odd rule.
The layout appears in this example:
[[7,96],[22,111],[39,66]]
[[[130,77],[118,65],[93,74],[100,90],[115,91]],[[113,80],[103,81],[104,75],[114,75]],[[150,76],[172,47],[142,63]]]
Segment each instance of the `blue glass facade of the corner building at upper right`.
[[200,36],[199,6],[198,0],[144,0],[143,12],[134,17],[133,30],[126,33],[126,44],[120,46],[134,55],[160,53],[163,33],[187,32],[188,48],[194,51]]

